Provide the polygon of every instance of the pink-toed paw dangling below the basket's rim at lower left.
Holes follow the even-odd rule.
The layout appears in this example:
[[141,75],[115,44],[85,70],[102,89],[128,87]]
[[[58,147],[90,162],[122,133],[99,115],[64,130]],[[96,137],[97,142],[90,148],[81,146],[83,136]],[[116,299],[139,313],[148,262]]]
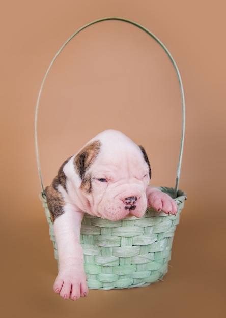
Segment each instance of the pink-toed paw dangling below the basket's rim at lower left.
[[56,294],[63,299],[77,300],[87,297],[87,277],[84,271],[60,270],[53,285]]

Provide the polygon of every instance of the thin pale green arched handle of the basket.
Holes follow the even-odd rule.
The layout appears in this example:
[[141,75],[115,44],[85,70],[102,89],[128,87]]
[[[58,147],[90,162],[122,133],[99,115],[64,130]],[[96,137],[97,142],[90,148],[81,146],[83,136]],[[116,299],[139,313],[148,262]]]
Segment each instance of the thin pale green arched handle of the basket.
[[88,26],[91,26],[93,24],[96,24],[96,23],[101,22],[101,21],[106,21],[106,20],[124,21],[124,22],[130,23],[130,24],[133,24],[133,25],[137,26],[138,28],[142,29],[143,31],[145,31],[163,48],[165,53],[170,58],[173,66],[174,66],[174,69],[177,73],[177,78],[179,81],[180,93],[181,93],[181,103],[182,103],[182,133],[181,133],[181,145],[180,145],[179,160],[178,160],[178,166],[177,166],[177,172],[176,172],[176,185],[175,185],[175,197],[176,197],[177,192],[178,192],[179,180],[180,180],[181,162],[182,162],[182,154],[183,154],[183,147],[184,147],[184,134],[185,134],[185,99],[184,99],[184,90],[183,90],[180,72],[178,70],[176,62],[174,61],[171,53],[168,51],[168,49],[165,47],[165,45],[154,34],[152,34],[146,27],[144,27],[144,26],[142,26],[134,21],[120,18],[120,17],[101,18],[98,20],[94,20],[86,25],[83,25],[81,28],[79,28],[77,31],[75,31],[75,33],[73,33],[72,36],[63,44],[63,46],[60,48],[60,50],[54,56],[53,60],[51,61],[50,65],[48,67],[47,72],[45,73],[45,76],[44,76],[42,84],[41,84],[41,88],[39,90],[38,99],[37,99],[37,103],[36,103],[36,112],[35,112],[35,147],[36,147],[36,157],[37,157],[37,164],[38,164],[39,178],[40,178],[41,187],[42,187],[42,193],[44,194],[45,192],[44,192],[44,186],[43,186],[43,180],[42,180],[42,174],[41,174],[41,168],[40,168],[40,160],[39,160],[38,139],[37,139],[37,117],[38,117],[38,108],[39,108],[40,97],[41,97],[41,93],[42,93],[42,89],[43,89],[46,77],[47,77],[50,69],[52,68],[54,61],[56,60],[58,55],[61,53],[61,51],[64,49],[64,47],[68,44],[68,42],[70,42],[80,31],[87,28]]

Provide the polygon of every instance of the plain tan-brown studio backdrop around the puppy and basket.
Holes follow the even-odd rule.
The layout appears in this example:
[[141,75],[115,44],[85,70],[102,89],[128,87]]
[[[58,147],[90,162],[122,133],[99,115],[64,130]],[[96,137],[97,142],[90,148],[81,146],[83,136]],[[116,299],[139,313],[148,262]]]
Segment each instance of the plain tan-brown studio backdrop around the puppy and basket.
[[[225,5],[223,0],[4,2],[1,18],[1,315],[3,317],[224,317]],[[34,145],[43,76],[64,41],[105,16],[149,28],[183,79],[186,138],[180,188],[188,193],[164,282],[52,292],[56,275]],[[151,184],[174,186],[181,129],[175,72],[142,30],[101,22],[65,48],[46,81],[38,118],[44,184],[96,133],[116,128],[145,146]]]

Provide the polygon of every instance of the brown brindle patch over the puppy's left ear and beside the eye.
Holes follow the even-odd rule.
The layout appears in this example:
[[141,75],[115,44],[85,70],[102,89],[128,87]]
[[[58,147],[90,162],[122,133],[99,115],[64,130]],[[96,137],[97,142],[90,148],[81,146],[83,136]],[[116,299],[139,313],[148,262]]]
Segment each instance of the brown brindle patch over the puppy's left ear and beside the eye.
[[100,151],[101,142],[96,140],[87,146],[85,146],[74,158],[74,168],[77,174],[80,176],[81,189],[87,193],[91,192],[91,175],[86,175],[87,169],[93,164],[95,158]]

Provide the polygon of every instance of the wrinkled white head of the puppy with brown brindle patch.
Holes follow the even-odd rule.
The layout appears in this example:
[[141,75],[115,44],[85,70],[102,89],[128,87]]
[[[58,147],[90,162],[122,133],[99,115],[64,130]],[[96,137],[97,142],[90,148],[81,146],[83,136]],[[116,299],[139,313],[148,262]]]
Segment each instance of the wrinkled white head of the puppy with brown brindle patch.
[[144,148],[117,131],[105,131],[75,157],[80,190],[90,212],[109,220],[142,217],[151,177]]

